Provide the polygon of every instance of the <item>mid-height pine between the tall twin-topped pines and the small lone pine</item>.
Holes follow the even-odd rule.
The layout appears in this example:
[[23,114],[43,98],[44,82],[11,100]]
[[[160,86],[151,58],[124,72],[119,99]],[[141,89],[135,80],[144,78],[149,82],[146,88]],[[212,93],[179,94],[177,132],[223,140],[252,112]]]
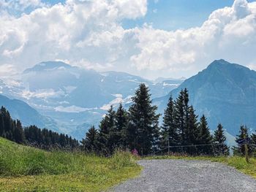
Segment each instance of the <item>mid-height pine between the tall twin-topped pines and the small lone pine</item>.
[[213,153],[212,146],[210,145],[212,144],[212,137],[205,115],[200,118],[199,129],[199,142],[200,145],[204,145],[200,147],[200,152],[203,154],[211,155]]

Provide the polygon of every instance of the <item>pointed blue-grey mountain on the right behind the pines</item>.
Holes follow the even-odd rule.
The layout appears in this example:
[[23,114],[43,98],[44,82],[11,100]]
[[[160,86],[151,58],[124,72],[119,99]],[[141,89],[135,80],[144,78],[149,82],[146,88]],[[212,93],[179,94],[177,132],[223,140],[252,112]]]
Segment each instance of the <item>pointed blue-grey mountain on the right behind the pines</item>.
[[241,124],[256,129],[256,72],[221,59],[213,61],[202,72],[185,80],[167,96],[154,99],[163,113],[170,95],[181,89],[189,91],[190,103],[199,115],[205,114],[211,129],[222,123],[233,136]]

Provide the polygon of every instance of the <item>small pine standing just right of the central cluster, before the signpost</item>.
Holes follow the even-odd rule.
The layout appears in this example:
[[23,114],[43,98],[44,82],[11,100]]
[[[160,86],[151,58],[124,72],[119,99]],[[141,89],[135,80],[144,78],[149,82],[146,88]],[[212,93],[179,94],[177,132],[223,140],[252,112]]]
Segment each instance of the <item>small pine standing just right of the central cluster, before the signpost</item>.
[[225,144],[226,140],[222,124],[219,123],[217,130],[214,131],[214,142],[217,143],[214,145],[214,150],[217,155],[229,155],[229,147]]

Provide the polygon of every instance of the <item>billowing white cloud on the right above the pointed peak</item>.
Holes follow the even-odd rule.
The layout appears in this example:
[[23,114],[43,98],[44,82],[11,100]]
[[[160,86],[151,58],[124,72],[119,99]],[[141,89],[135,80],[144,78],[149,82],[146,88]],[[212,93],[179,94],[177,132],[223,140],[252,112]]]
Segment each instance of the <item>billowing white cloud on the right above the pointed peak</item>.
[[[144,26],[138,31],[140,53],[131,61],[138,69],[196,72],[214,59],[246,64],[255,61],[256,2],[236,0],[233,7],[212,12],[202,26],[163,31]],[[248,57],[244,58],[244,54]]]

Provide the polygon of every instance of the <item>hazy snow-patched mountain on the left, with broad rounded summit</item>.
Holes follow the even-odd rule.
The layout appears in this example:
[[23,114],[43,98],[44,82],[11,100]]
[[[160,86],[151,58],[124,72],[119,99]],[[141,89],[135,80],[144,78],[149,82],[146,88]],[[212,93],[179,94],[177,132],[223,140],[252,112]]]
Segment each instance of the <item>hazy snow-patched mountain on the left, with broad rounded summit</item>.
[[141,82],[156,98],[165,96],[183,80],[153,82],[124,72],[95,72],[48,61],[1,80],[0,93],[26,101],[42,115],[53,118],[60,131],[81,139],[89,126],[98,125],[111,104],[129,104]]

